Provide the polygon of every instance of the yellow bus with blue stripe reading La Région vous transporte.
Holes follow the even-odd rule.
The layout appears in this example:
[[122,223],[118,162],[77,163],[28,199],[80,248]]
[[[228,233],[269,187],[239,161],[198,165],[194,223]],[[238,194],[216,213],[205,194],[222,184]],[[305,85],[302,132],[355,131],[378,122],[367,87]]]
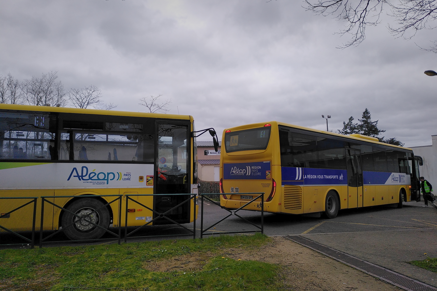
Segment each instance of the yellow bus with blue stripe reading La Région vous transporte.
[[[420,201],[413,151],[360,134],[342,135],[271,121],[225,129],[220,203],[238,209],[265,192],[264,211],[320,212]],[[243,193],[243,194],[239,194]],[[244,209],[260,210],[260,201]]]

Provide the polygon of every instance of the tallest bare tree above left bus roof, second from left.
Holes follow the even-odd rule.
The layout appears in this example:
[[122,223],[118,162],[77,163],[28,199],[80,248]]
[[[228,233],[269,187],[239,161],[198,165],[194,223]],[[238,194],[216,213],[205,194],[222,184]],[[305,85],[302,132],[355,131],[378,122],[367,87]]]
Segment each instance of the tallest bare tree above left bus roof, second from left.
[[41,78],[32,76],[23,82],[23,93],[30,105],[37,106],[66,106],[66,92],[62,82],[56,82],[58,72],[42,74]]

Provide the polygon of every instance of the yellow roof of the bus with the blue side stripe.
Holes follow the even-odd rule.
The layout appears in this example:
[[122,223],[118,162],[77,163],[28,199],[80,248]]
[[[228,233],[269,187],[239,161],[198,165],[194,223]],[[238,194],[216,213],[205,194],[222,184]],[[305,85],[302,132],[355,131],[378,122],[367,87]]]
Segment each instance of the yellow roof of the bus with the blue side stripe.
[[[343,137],[343,138],[352,139],[352,140],[359,140],[359,141],[367,142],[367,143],[371,143],[371,144],[380,144],[380,145],[386,146],[386,147],[397,147],[397,148],[402,148],[404,150],[413,151],[409,147],[400,147],[400,146],[396,146],[394,144],[386,144],[386,143],[382,143],[382,142],[379,142],[379,141],[371,140],[372,137],[369,137],[369,139],[368,139],[368,138],[362,138],[362,137],[356,137],[356,136],[354,137],[354,136],[345,135],[345,134],[336,134],[334,132],[329,132],[329,131],[325,131],[325,130],[318,130],[318,129],[309,128],[309,127],[302,127],[302,126],[299,126],[299,125],[290,124],[290,123],[284,123],[284,122],[278,122],[278,121],[251,123],[251,124],[241,125],[241,126],[238,126],[238,127],[225,128],[223,130],[223,133],[225,133],[226,130],[233,131],[233,130],[245,130],[245,129],[256,128],[256,127],[264,127],[265,124],[284,125],[284,126],[287,126],[287,127],[293,127],[293,128],[297,128],[297,129],[301,129],[301,130],[308,130],[308,131],[316,132],[316,133],[319,133],[319,134],[328,134],[328,135],[332,135],[332,136],[336,136],[336,137]],[[367,136],[363,136],[363,137],[367,137]]]

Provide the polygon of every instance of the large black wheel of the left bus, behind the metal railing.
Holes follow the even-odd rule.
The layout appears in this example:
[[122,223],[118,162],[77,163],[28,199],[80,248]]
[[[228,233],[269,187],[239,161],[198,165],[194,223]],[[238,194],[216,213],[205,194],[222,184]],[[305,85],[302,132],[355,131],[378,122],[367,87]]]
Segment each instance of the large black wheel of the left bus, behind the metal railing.
[[[104,228],[97,227],[84,219],[79,219],[69,212],[64,212],[61,225],[65,226],[65,228],[62,228],[65,229],[64,233],[70,240],[96,240],[101,238],[105,233],[105,229],[109,227],[111,217],[108,209],[97,199],[81,198],[71,203],[66,209],[78,216],[87,216],[87,214],[99,209],[88,219]],[[69,224],[71,225],[68,226]]]

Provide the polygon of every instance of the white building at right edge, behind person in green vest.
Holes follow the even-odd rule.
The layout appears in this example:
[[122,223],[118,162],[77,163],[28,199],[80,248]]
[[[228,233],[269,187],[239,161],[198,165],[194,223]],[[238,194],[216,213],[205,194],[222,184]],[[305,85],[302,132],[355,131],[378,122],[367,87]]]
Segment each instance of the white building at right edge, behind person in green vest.
[[423,158],[423,166],[419,166],[419,174],[437,188],[437,135],[431,135],[432,145],[410,147],[415,156]]

